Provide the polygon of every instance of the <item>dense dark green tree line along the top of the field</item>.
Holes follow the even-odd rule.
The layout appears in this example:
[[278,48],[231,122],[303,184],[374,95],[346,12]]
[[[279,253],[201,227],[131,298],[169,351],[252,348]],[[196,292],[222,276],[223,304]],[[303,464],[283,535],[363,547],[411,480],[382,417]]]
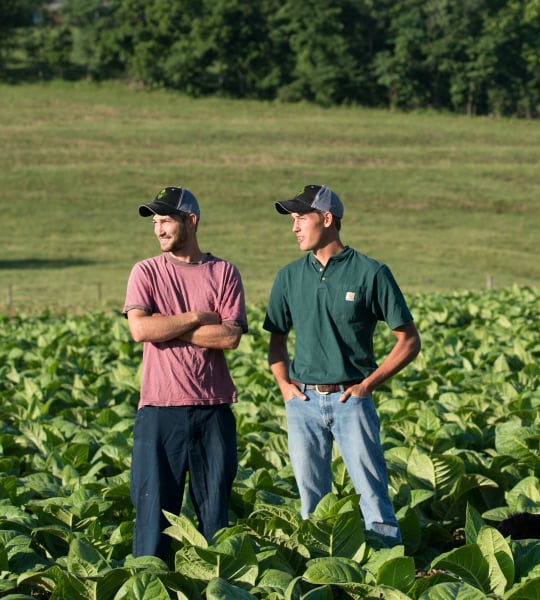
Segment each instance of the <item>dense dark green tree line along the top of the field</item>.
[[[537,118],[540,0],[2,0],[0,64],[191,96]],[[59,5],[59,6],[58,6]]]

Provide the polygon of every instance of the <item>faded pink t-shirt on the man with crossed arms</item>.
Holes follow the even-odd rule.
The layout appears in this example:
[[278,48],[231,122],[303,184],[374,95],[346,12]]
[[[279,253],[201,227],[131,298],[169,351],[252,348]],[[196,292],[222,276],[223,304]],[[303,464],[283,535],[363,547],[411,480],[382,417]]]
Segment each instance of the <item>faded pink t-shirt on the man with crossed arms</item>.
[[[133,308],[162,315],[214,311],[222,323],[234,322],[247,331],[240,274],[231,263],[211,255],[196,265],[178,263],[167,254],[135,264],[123,313]],[[236,389],[223,350],[181,340],[144,343],[139,408],[232,402]]]

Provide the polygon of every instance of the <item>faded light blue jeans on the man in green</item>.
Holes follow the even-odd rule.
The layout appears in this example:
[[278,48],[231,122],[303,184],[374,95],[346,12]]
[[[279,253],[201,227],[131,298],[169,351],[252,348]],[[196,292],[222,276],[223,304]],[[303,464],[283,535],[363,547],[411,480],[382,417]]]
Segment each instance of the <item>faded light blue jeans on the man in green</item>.
[[380,421],[371,396],[305,390],[307,400],[285,403],[289,455],[300,492],[302,518],[307,519],[323,496],[332,491],[332,445],[335,440],[357,494],[366,529],[399,543],[401,535],[388,495]]

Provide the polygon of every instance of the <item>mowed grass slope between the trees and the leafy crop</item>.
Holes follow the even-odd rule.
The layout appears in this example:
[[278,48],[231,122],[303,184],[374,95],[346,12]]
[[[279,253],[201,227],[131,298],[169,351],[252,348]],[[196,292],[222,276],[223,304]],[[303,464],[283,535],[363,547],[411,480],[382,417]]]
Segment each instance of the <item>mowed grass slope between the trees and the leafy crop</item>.
[[0,306],[121,308],[155,255],[137,207],[199,198],[201,246],[264,302],[300,256],[275,200],[324,183],[342,238],[405,292],[540,283],[540,123],[190,99],[121,85],[0,85]]

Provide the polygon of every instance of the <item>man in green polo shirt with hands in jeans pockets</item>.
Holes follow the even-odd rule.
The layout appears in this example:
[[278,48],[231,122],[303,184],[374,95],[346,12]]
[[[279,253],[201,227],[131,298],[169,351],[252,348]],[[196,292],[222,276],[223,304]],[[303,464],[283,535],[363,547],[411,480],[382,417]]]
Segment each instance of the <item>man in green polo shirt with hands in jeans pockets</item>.
[[[307,185],[275,207],[290,214],[300,250],[307,252],[278,272],[264,320],[270,368],[287,411],[302,517],[332,491],[335,440],[360,494],[366,528],[399,543],[372,392],[414,359],[420,336],[388,267],[341,242],[344,209],[335,192]],[[378,321],[395,336],[380,364],[373,352]]]

